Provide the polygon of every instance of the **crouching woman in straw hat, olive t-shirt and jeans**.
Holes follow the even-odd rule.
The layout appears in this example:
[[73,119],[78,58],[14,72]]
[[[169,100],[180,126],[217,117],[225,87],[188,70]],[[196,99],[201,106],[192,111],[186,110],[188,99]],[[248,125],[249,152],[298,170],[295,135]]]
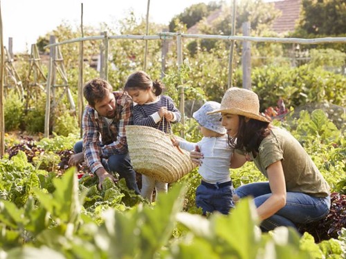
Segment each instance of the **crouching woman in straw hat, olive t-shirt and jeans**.
[[[264,231],[324,218],[330,208],[327,182],[300,143],[271,125],[259,111],[255,93],[233,87],[226,91],[221,108],[211,112],[221,113],[228,144],[235,148],[230,168],[253,161],[268,179],[239,186],[233,195],[235,202],[252,196]],[[203,154],[193,152],[191,157],[199,164]]]

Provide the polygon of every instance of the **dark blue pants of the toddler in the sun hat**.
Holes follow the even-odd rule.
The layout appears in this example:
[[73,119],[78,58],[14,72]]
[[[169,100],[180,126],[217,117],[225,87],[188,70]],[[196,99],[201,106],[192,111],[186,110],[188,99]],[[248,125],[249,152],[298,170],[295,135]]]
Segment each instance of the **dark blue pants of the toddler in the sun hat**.
[[230,213],[230,209],[234,207],[232,182],[209,184],[202,181],[196,190],[196,205],[202,208],[203,215],[213,211]]

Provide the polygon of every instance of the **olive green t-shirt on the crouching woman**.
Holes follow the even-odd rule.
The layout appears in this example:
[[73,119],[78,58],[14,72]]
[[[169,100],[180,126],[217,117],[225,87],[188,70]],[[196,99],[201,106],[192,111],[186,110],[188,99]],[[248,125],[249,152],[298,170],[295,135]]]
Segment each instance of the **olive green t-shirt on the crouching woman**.
[[315,197],[329,195],[329,185],[298,140],[288,131],[273,127],[262,140],[257,157],[249,154],[257,168],[268,178],[266,168],[281,161],[286,191],[307,193]]

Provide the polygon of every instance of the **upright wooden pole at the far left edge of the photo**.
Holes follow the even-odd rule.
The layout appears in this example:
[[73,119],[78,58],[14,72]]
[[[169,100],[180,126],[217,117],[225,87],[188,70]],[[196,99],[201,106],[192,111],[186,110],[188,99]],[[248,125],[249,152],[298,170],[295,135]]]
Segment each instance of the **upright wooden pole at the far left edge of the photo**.
[[3,28],[0,1],[0,158],[5,154],[5,116],[3,112],[3,75],[5,73],[5,57],[3,54]]

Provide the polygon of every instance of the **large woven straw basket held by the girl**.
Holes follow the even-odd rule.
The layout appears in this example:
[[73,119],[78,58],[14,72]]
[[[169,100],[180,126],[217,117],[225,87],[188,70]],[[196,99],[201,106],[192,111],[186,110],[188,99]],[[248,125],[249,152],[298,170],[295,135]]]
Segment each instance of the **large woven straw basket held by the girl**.
[[194,169],[189,153],[172,145],[170,135],[147,126],[126,126],[134,170],[160,182],[176,182]]

